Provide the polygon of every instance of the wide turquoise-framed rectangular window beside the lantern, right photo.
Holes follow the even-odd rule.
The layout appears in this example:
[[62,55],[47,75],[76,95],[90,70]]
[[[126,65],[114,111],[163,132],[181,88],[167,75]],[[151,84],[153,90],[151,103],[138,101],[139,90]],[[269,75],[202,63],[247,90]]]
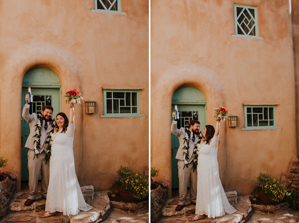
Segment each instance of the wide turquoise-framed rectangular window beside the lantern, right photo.
[[244,105],[244,120],[242,130],[280,129],[276,126],[275,105]]

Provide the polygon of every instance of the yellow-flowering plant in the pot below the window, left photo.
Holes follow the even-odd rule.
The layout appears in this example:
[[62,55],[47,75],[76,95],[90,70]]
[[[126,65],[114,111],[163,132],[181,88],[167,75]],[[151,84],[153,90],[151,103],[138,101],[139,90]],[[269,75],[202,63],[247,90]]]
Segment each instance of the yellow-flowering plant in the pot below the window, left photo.
[[149,195],[149,181],[143,177],[143,174],[136,173],[132,165],[130,167],[121,166],[116,169],[117,175],[113,173],[101,172],[97,173],[110,174],[114,177],[112,186],[122,185],[124,189],[137,200],[142,200]]

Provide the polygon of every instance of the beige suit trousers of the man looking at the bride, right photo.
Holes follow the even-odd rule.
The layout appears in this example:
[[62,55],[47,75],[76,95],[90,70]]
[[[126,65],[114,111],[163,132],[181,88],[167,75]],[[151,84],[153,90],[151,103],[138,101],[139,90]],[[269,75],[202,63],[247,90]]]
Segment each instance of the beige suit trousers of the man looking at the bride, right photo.
[[178,179],[180,200],[178,204],[185,205],[187,201],[187,185],[190,182],[190,200],[192,203],[196,202],[196,190],[197,190],[197,170],[193,172],[191,169],[193,161],[188,164],[188,168],[184,168],[184,161],[178,160]]

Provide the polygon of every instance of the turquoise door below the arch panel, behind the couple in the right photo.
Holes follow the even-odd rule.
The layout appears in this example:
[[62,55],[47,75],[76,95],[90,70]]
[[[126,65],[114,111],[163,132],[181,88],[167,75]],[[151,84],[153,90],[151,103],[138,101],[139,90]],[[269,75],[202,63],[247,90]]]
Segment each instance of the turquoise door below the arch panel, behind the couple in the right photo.
[[[178,121],[178,129],[181,127],[188,128],[189,122],[192,119],[199,120],[200,122],[200,131],[202,131],[206,126],[206,106],[179,106],[178,111],[179,121]],[[174,111],[174,106],[172,106],[172,111]],[[172,115],[172,113],[171,113]],[[172,116],[171,116],[172,118]],[[173,120],[173,118],[172,118]],[[171,134],[171,150],[172,150],[172,188],[178,188],[178,160],[175,159],[175,156],[178,151],[178,147],[180,146],[178,137]],[[188,184],[189,187],[189,184]]]

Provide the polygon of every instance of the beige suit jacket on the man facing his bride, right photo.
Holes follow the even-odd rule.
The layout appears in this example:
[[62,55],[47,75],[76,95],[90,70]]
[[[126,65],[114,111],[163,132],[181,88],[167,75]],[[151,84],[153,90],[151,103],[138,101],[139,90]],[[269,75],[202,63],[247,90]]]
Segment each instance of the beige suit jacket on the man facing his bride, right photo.
[[[180,142],[180,147],[178,148],[178,152],[177,152],[175,159],[184,160],[183,147],[184,147],[184,138],[186,137],[187,133],[185,131],[185,128],[183,128],[183,127],[180,129],[177,128],[177,124],[178,124],[177,121],[173,121],[173,122],[171,122],[171,132],[174,135],[178,136],[178,140]],[[194,157],[193,150],[194,150],[194,146],[197,144],[197,142],[198,142],[197,135],[195,137],[194,142],[192,142],[192,139],[189,137],[189,141],[188,141],[189,149],[188,149],[188,158],[187,158],[188,163],[190,163],[193,160],[193,157]]]

